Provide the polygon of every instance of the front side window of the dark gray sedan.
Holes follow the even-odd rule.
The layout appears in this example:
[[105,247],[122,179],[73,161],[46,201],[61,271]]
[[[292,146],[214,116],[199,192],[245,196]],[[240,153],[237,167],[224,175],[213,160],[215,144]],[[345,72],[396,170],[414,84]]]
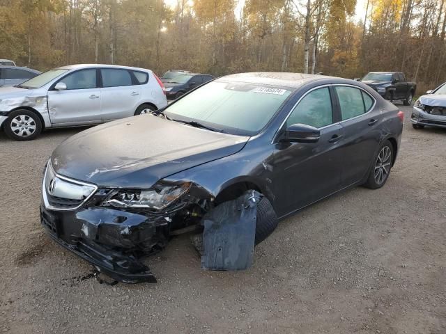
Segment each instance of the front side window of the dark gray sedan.
[[330,90],[319,88],[305,95],[286,120],[286,127],[305,124],[312,127],[325,127],[333,122]]

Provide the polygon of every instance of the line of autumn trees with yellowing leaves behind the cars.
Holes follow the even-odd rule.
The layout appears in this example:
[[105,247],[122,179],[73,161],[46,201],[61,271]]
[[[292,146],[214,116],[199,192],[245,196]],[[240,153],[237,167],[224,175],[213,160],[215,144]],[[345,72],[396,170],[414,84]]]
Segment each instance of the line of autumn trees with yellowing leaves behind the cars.
[[206,72],[446,80],[445,0],[0,0],[0,58]]

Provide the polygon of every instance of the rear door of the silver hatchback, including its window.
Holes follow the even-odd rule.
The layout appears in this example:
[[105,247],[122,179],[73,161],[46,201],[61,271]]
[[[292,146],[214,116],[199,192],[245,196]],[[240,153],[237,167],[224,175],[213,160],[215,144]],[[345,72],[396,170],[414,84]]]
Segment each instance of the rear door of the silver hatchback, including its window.
[[101,68],[102,120],[134,115],[141,99],[141,86],[130,70]]

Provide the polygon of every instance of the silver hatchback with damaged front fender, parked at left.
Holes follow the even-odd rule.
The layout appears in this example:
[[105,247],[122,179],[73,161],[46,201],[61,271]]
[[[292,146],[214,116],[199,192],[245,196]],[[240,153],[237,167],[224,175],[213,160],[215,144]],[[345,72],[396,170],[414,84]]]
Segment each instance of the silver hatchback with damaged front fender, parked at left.
[[0,88],[0,126],[17,141],[43,129],[95,125],[167,106],[151,71],[114,65],[70,65]]

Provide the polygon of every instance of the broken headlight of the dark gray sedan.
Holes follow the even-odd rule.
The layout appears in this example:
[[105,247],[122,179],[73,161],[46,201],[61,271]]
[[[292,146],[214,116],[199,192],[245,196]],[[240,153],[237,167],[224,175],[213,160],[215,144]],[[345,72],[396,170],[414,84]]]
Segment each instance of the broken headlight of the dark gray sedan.
[[134,209],[164,209],[189,191],[190,182],[167,186],[158,184],[148,190],[120,190],[112,193],[102,205]]

